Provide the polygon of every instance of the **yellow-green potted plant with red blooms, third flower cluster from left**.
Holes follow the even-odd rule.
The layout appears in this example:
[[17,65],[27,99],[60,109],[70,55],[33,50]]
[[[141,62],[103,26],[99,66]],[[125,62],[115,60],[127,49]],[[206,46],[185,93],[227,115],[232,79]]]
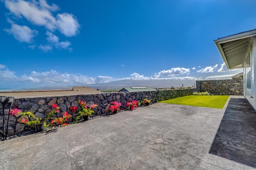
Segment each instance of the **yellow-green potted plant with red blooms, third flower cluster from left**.
[[80,105],[81,110],[77,112],[78,115],[76,116],[76,119],[75,119],[74,123],[77,123],[79,120],[81,120],[83,116],[92,115],[92,113],[94,113],[94,111],[92,109],[95,108],[95,107],[98,107],[97,104],[92,104],[88,108],[86,106],[86,102],[84,102],[83,100],[80,100],[80,99],[77,100],[77,103]]

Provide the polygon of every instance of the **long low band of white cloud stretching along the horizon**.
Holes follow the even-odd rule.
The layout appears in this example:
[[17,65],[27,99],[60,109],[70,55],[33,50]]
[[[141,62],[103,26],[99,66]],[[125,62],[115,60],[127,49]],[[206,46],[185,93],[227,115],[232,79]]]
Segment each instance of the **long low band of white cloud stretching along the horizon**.
[[231,76],[234,76],[234,74],[228,74],[228,75],[208,76],[206,78],[202,78],[202,77],[196,78],[193,76],[160,77],[158,76],[158,74],[157,76],[144,76],[143,74],[134,72],[126,78],[114,78],[110,76],[88,77],[82,74],[69,74],[69,73],[61,73],[56,70],[50,70],[47,72],[30,71],[29,74],[23,74],[22,76],[17,77],[15,75],[16,72],[11,71],[8,68],[6,68],[6,70],[1,70],[3,68],[6,68],[6,66],[0,64],[0,81],[15,82],[15,83],[22,82],[22,83],[47,84],[48,86],[107,83],[107,82],[114,82],[118,80],[220,80],[220,79],[231,79]]

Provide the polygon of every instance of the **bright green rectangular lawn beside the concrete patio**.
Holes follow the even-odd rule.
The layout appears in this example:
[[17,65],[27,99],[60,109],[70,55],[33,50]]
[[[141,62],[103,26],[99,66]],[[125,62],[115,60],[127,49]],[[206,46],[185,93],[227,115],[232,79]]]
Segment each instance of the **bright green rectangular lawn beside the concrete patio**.
[[217,109],[222,109],[226,104],[229,96],[200,96],[200,95],[190,95],[180,98],[175,98],[171,100],[165,100],[160,103],[169,104],[181,104],[188,106],[199,106],[199,107],[212,107]]

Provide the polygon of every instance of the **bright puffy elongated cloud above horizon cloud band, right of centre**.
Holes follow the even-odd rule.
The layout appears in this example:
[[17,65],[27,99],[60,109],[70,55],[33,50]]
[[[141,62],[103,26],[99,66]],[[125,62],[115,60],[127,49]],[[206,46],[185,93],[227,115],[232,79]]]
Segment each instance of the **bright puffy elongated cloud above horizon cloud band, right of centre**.
[[180,75],[180,74],[187,74],[190,72],[190,68],[172,68],[170,70],[162,70],[160,72],[158,72],[157,74],[155,74],[154,76],[156,78],[160,78],[160,77],[168,77],[168,76],[176,76],[176,75]]

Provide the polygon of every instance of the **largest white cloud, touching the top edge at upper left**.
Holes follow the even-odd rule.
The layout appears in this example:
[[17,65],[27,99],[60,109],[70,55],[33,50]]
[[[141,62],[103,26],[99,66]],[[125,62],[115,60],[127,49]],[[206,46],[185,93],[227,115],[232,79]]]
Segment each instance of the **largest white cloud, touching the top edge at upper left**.
[[75,36],[79,32],[80,24],[74,15],[63,13],[57,14],[55,18],[52,12],[60,8],[55,4],[48,5],[45,0],[6,0],[5,6],[16,17],[26,18],[32,24],[45,26],[51,31],[58,29],[67,37]]

